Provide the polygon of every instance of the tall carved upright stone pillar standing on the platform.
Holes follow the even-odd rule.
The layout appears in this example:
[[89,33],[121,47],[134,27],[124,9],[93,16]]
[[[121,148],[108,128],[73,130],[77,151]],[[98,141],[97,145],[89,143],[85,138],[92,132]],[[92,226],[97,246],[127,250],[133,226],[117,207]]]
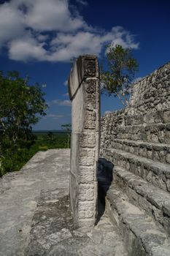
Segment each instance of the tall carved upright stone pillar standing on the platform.
[[70,197],[77,227],[93,226],[97,214],[100,90],[96,56],[77,59],[69,77],[72,100]]

